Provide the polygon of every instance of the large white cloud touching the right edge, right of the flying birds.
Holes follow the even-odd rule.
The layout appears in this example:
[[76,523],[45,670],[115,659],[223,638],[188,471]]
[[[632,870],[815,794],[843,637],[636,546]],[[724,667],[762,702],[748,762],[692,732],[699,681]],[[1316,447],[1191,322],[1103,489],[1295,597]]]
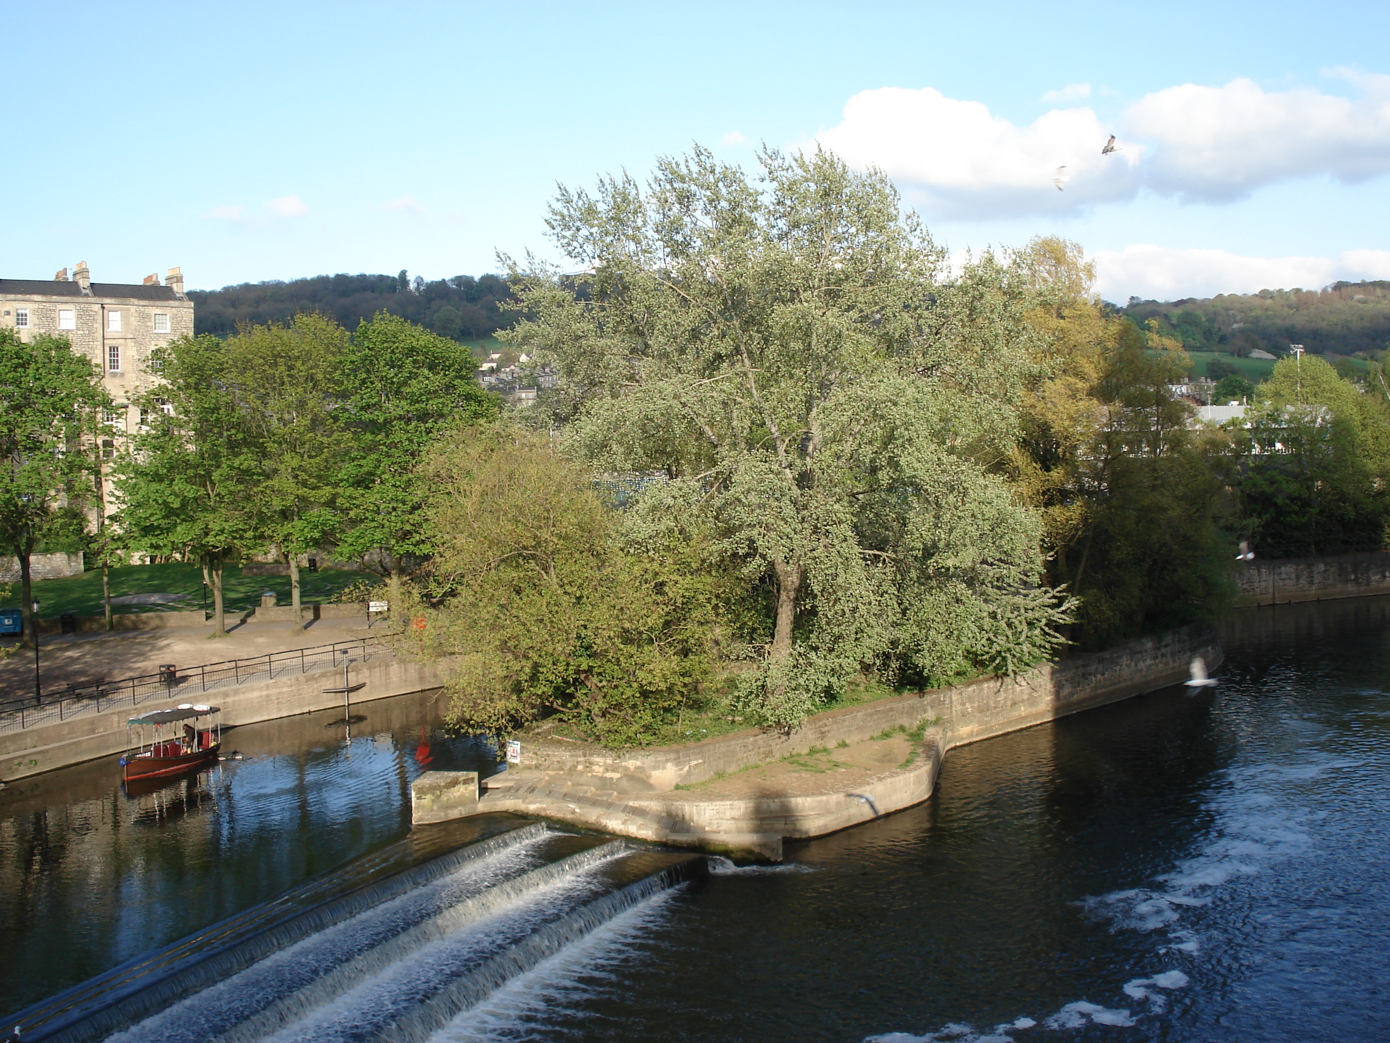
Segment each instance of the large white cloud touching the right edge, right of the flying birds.
[[1390,171],[1390,76],[1341,75],[1354,76],[1359,99],[1307,88],[1266,92],[1250,79],[1145,95],[1125,115],[1130,136],[1156,146],[1145,184],[1225,202],[1290,178],[1365,181]]

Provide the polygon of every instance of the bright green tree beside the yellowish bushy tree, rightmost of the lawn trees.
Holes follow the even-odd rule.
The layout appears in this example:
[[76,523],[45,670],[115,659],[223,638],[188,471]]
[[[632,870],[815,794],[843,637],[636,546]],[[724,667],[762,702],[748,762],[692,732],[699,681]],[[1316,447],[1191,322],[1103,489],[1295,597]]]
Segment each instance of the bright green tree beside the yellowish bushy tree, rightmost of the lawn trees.
[[339,551],[385,576],[393,601],[406,563],[430,551],[417,464],[446,430],[498,413],[499,399],[473,374],[467,348],[386,313],[360,325],[342,355],[349,441],[338,480]]

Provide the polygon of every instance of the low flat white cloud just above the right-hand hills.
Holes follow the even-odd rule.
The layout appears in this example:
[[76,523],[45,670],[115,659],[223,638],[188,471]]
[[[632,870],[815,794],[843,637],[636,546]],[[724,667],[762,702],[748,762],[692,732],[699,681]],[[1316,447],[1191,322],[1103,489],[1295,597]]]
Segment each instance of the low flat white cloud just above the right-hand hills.
[[1094,254],[1097,292],[1125,303],[1254,293],[1259,289],[1316,289],[1337,280],[1390,278],[1390,250],[1347,250],[1337,257],[1245,257],[1226,250],[1177,250],[1136,245]]

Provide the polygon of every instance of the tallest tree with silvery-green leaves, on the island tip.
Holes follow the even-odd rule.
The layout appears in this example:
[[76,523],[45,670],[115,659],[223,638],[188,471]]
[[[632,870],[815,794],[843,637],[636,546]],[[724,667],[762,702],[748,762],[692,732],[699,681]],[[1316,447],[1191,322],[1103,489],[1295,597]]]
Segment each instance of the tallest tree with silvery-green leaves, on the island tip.
[[[1008,273],[944,253],[877,172],[703,150],[648,186],[562,189],[556,243],[587,274],[513,267],[512,339],[560,364],[570,446],[662,471],[638,512],[709,519],[766,591],[739,702],[791,725],[865,666],[944,679],[1055,645],[1040,526],[994,473],[1017,434],[1027,330]],[[575,292],[578,291],[578,292]]]

